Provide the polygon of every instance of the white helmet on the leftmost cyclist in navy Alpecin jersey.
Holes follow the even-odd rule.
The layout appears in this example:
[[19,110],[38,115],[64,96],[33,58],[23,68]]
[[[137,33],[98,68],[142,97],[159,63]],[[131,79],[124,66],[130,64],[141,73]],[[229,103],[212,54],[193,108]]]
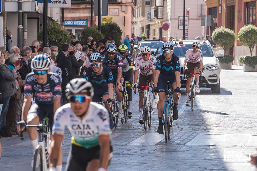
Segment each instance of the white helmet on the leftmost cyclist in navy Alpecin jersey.
[[36,71],[45,71],[50,68],[51,62],[48,54],[36,55],[31,61],[31,68]]

